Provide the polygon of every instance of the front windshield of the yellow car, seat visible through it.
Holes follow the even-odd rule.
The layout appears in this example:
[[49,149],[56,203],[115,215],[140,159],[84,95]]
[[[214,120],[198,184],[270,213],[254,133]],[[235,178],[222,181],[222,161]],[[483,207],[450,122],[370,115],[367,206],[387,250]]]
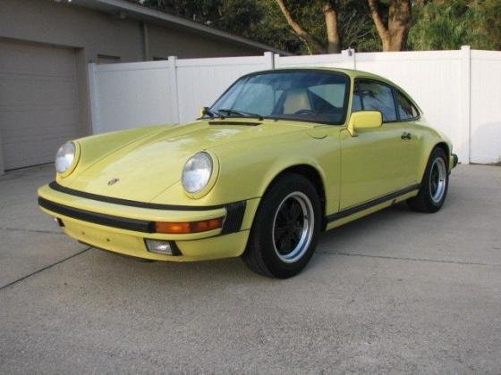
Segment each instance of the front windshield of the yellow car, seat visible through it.
[[333,71],[274,71],[242,77],[210,107],[225,117],[344,123],[349,79]]

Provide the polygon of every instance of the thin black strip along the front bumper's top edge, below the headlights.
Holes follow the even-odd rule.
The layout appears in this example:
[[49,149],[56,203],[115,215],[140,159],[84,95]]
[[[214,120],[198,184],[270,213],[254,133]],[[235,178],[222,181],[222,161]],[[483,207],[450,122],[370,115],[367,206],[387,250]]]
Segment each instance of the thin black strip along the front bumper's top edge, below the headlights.
[[149,202],[132,201],[130,199],[114,198],[112,196],[99,196],[98,194],[87,193],[81,190],[75,190],[70,187],[59,185],[56,181],[52,181],[48,186],[60,193],[69,194],[71,196],[81,196],[99,202],[106,202],[112,204],[123,204],[131,207],[152,208],[156,210],[178,210],[178,211],[208,211],[217,210],[218,208],[225,207],[225,204],[217,205],[180,205],[180,204],[152,204]]

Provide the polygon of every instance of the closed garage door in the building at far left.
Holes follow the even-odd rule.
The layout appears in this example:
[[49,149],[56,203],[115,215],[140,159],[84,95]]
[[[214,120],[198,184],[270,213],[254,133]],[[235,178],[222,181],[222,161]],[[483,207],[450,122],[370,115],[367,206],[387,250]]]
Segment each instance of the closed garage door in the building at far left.
[[4,169],[53,162],[78,134],[72,49],[0,41],[0,150]]

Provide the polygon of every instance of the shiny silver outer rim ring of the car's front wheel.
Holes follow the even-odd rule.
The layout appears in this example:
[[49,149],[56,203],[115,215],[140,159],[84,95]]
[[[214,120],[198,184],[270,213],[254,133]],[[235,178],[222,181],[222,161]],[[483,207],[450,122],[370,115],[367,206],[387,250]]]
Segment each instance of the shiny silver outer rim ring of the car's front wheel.
[[[297,243],[297,245],[291,249],[287,254],[280,254],[278,249],[276,248],[276,218],[278,213],[284,206],[284,203],[289,200],[294,199],[297,203],[301,205],[301,211],[303,215],[303,223],[301,229],[301,236]],[[315,228],[315,214],[313,211],[313,204],[311,204],[310,198],[300,191],[295,191],[288,196],[285,196],[282,202],[278,204],[276,208],[276,212],[273,218],[273,227],[271,229],[272,234],[272,242],[273,249],[275,251],[276,256],[282,261],[286,263],[297,262],[301,259],[301,257],[308,251],[310,247],[311,239],[313,237],[313,231]]]

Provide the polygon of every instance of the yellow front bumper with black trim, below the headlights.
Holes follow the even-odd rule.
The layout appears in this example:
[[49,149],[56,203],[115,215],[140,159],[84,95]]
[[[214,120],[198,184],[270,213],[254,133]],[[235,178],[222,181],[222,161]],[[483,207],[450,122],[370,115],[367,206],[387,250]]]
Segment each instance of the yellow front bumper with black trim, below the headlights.
[[[259,199],[210,207],[169,206],[94,196],[53,182],[38,189],[38,204],[63,223],[67,235],[90,246],[140,258],[183,262],[241,255]],[[155,232],[157,221],[220,217],[225,218],[220,229],[190,234]],[[151,253],[145,239],[168,240],[179,253]]]

